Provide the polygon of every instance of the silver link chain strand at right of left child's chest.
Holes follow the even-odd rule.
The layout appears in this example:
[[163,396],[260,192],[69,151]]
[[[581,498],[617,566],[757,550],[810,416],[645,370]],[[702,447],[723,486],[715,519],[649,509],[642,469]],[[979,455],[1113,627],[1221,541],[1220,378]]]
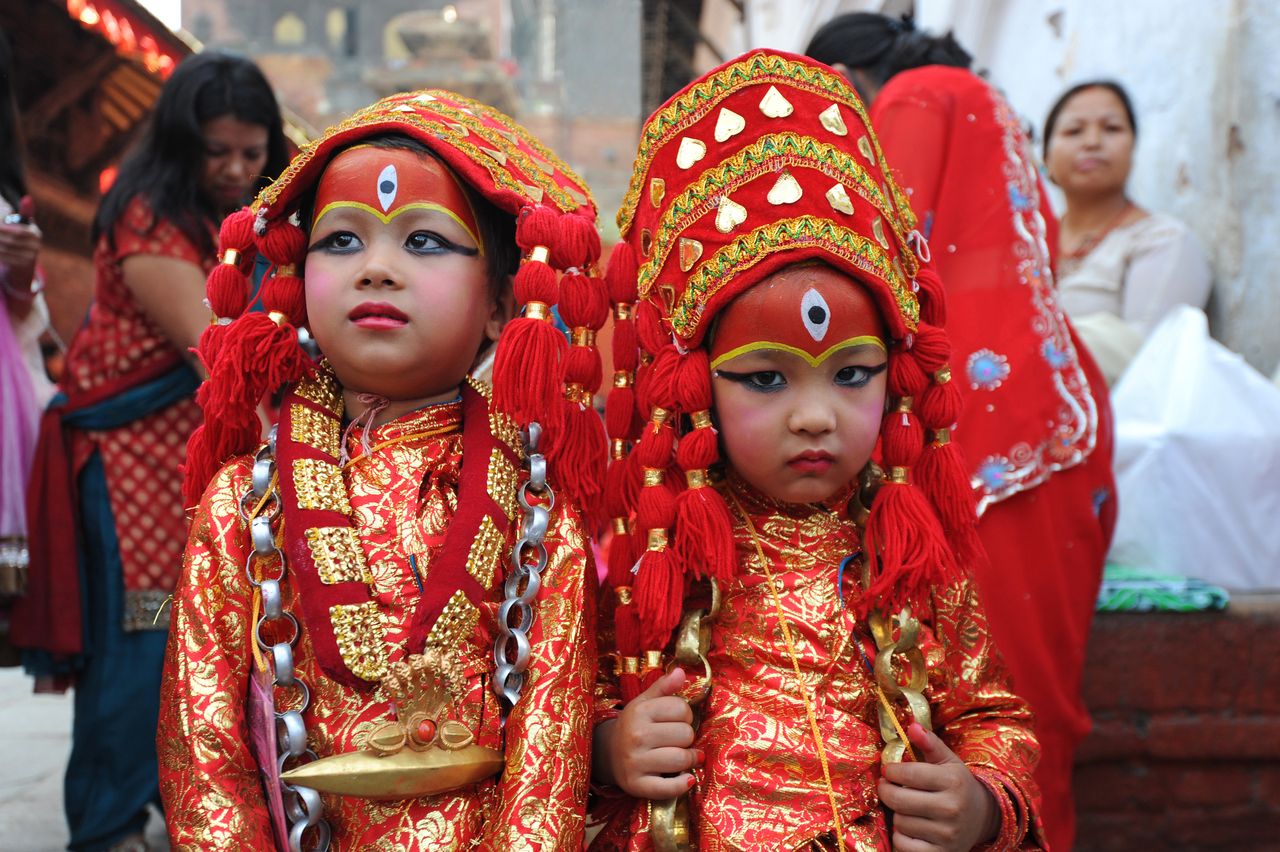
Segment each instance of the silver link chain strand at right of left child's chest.
[[[525,519],[520,539],[511,549],[511,571],[498,609],[498,638],[493,643],[493,691],[502,704],[504,724],[525,687],[530,660],[529,629],[534,626],[532,604],[543,586],[543,569],[547,567],[544,539],[556,507],[556,493],[547,484],[547,458],[538,452],[541,434],[538,423],[530,423],[520,435],[525,444],[529,478],[520,485],[516,499]],[[530,503],[531,495],[536,495],[536,503]]]

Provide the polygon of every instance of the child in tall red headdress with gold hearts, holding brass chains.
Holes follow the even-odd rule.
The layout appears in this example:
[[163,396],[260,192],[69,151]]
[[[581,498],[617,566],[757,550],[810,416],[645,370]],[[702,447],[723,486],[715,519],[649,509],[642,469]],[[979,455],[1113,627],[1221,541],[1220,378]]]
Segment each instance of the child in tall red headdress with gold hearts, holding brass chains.
[[852,90],[782,54],[710,72],[645,125],[620,225],[644,354],[608,412],[598,846],[1038,847],[942,289]]

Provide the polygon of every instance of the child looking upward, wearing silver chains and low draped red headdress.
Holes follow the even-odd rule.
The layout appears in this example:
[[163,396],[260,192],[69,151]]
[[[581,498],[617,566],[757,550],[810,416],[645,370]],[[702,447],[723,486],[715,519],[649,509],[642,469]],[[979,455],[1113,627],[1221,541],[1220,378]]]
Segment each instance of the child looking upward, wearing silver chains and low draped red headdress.
[[581,848],[598,253],[564,164],[440,91],[330,129],[223,226],[157,739],[174,848]]

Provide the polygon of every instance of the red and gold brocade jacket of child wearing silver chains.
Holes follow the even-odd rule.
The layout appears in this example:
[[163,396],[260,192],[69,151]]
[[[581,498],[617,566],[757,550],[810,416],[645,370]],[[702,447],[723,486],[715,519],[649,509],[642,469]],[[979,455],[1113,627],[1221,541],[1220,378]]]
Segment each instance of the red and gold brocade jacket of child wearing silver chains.
[[[480,406],[484,412],[483,400]],[[303,715],[308,746],[320,757],[362,748],[370,732],[390,718],[375,675],[406,656],[420,590],[430,592],[439,577],[436,562],[445,533],[462,512],[462,411],[463,403],[433,406],[376,427],[365,453],[358,431],[348,441],[356,458],[340,468],[340,485],[367,565],[369,594],[360,605],[367,617],[338,619],[334,613],[339,608],[334,606],[329,610],[332,623],[307,618],[300,588],[306,587],[300,574],[303,568],[298,560],[288,564],[282,583],[284,608],[302,624],[297,675],[311,692]],[[282,421],[283,416],[282,411]],[[294,414],[293,434],[305,438],[315,422]],[[494,434],[495,446],[504,444],[504,453],[518,452],[513,434]],[[481,466],[481,487],[511,518],[504,530],[481,526],[474,542],[468,536],[466,569],[488,590],[476,608],[479,618],[451,615],[456,599],[449,599],[426,642],[443,643],[461,659],[466,697],[456,704],[454,718],[475,733],[480,746],[503,752],[506,768],[493,779],[434,797],[371,801],[325,794],[324,816],[333,829],[334,849],[582,846],[595,678],[594,597],[585,590],[595,594],[594,568],[576,516],[557,508],[534,605],[532,661],[520,704],[502,732],[492,691],[493,636],[521,513],[515,500],[518,471],[500,462],[497,448],[490,458],[475,462]],[[174,596],[157,747],[165,819],[175,849],[275,848],[246,723],[255,626],[252,587],[246,580],[252,545],[239,504],[250,487],[251,463],[250,458],[232,462],[205,493]],[[285,476],[282,468],[280,478]],[[311,498],[334,496],[324,490],[338,487],[335,481],[314,481],[319,490]],[[289,535],[285,528],[284,537]],[[340,569],[337,560],[320,568],[321,573]],[[586,586],[589,577],[591,586]],[[312,594],[325,591],[312,588],[319,590]],[[366,632],[355,636],[360,629]],[[325,642],[333,646],[334,640],[342,661],[358,669],[367,682],[356,679],[353,686],[348,673],[335,678],[325,669],[316,649]],[[357,654],[351,652],[353,647]]]

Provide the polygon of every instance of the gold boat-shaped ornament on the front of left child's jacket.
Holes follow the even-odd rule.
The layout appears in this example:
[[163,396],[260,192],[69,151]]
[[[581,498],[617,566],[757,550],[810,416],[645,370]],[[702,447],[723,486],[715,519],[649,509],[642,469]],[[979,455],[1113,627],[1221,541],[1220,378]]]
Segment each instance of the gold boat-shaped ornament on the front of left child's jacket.
[[385,801],[447,793],[502,771],[502,752],[477,746],[475,734],[449,718],[465,690],[452,652],[429,650],[396,663],[381,686],[396,719],[375,728],[360,751],[314,760],[283,780]]

